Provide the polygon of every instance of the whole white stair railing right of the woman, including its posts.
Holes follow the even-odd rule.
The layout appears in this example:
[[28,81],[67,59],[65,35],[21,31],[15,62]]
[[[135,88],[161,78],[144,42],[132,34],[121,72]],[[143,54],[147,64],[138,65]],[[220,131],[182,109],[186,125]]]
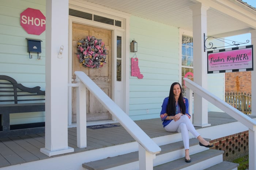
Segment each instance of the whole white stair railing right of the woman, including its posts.
[[[249,169],[256,169],[256,121],[250,118],[249,116],[246,116],[241,111],[237,110],[236,108],[230,106],[225,101],[221,100],[211,92],[205,90],[195,82],[192,82],[188,78],[184,78],[185,84],[186,84],[186,96],[188,99],[192,98],[192,91],[204,99],[208,100],[218,108],[220,108],[222,111],[226,112],[230,116],[232,116],[234,119],[236,119],[238,122],[241,122],[246,127],[249,128]],[[188,94],[187,94],[188,92]],[[190,105],[190,107],[192,107]],[[235,128],[235,127],[234,127]]]

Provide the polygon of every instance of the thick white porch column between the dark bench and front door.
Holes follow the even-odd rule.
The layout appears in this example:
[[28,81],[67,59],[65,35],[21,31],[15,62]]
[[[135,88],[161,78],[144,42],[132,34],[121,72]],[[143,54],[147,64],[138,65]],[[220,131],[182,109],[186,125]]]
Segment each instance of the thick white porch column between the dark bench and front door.
[[53,156],[74,151],[68,147],[68,0],[46,0],[45,44],[45,148],[40,151]]

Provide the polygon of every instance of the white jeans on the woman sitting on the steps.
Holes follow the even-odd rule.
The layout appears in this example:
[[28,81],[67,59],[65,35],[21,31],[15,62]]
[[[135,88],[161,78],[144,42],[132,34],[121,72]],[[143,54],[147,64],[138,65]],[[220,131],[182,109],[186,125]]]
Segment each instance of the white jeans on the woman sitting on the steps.
[[193,124],[190,122],[187,115],[180,116],[180,119],[176,122],[172,120],[169,124],[165,126],[165,130],[167,132],[178,132],[181,133],[183,145],[185,149],[189,149],[189,134],[190,131],[195,138],[197,138],[200,134],[196,131]]

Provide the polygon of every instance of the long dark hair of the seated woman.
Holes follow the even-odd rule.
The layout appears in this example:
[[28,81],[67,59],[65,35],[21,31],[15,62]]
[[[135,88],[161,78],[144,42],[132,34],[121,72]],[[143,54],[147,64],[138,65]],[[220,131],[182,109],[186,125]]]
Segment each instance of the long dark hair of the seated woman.
[[167,106],[167,109],[166,109],[166,113],[167,113],[168,116],[174,116],[176,114],[176,106],[175,106],[176,101],[175,101],[174,94],[173,94],[173,87],[176,84],[178,84],[180,86],[180,96],[178,98],[178,105],[180,106],[181,113],[182,114],[186,113],[186,107],[185,107],[183,96],[182,96],[181,85],[180,85],[180,83],[175,82],[175,83],[172,84],[172,86],[170,88],[169,102],[168,102],[168,106]]

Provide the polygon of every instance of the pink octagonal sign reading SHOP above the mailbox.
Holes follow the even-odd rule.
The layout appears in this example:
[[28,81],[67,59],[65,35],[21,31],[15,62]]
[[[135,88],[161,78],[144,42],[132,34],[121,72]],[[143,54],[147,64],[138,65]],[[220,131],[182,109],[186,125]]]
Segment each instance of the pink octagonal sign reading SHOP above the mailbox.
[[20,25],[27,33],[40,35],[45,31],[45,16],[38,9],[27,8],[20,13]]

